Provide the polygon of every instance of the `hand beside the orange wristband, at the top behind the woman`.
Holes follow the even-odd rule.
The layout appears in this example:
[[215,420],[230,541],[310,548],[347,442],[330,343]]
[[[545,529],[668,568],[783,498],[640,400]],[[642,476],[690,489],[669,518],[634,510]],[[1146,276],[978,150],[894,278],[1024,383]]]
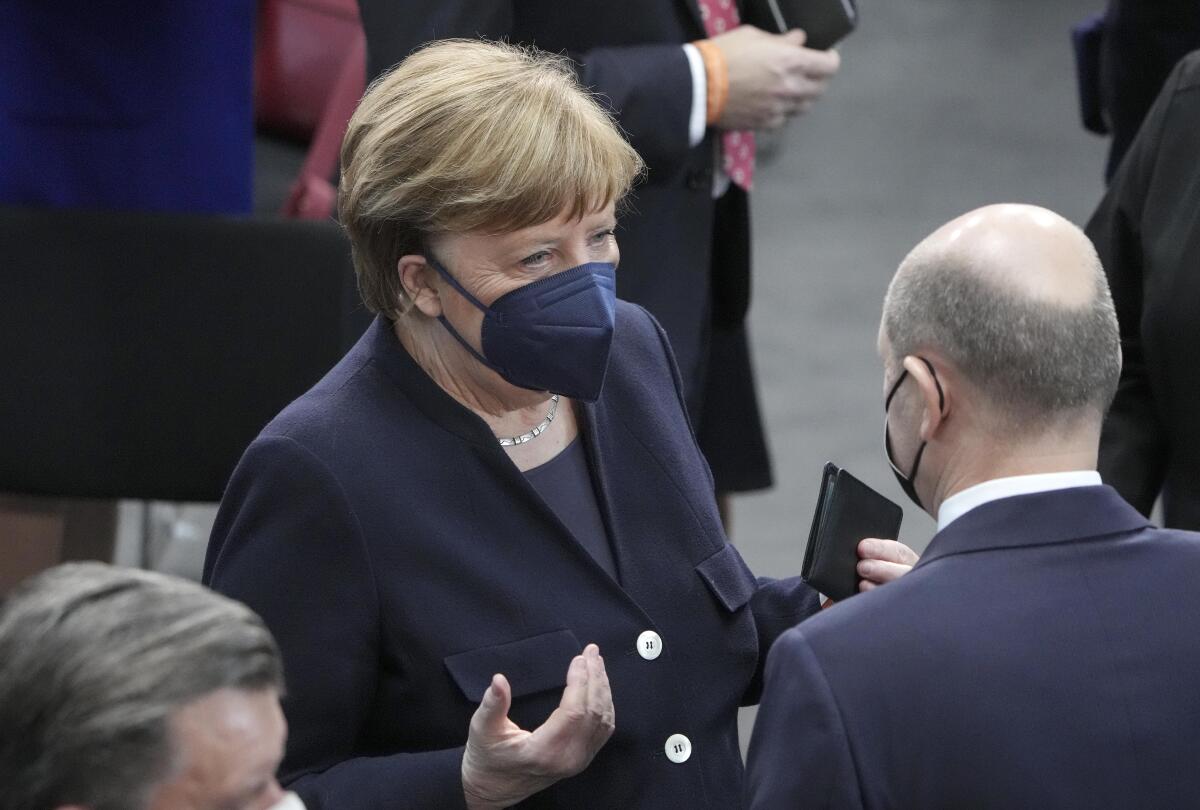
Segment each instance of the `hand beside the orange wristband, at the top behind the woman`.
[[713,37],[730,71],[722,130],[773,130],[804,113],[826,91],[841,58],[804,47],[805,34],[767,34],[754,25]]

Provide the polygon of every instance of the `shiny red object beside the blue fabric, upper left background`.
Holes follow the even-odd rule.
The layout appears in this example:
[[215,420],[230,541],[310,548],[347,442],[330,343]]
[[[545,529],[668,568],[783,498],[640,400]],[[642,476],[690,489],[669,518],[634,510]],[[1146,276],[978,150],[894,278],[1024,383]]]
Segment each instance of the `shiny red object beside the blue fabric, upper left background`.
[[262,0],[254,53],[254,119],[260,132],[308,142],[283,216],[334,212],[346,125],[366,88],[366,36],[355,0]]

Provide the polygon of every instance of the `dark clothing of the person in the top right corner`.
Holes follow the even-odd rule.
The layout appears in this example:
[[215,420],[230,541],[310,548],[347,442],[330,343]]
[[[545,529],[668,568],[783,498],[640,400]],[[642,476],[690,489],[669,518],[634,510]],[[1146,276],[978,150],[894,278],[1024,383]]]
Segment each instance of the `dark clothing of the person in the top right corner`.
[[1100,84],[1112,131],[1112,178],[1171,68],[1200,48],[1200,0],[1110,0]]

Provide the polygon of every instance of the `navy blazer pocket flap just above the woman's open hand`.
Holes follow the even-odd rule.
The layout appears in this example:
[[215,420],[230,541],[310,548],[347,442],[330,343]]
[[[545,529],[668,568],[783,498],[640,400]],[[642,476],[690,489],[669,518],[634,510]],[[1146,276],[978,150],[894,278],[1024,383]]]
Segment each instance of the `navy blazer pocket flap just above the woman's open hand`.
[[566,667],[583,652],[570,630],[552,630],[539,636],[480,647],[445,658],[446,670],[467,700],[478,703],[499,672],[509,679],[512,697],[533,695],[566,685]]

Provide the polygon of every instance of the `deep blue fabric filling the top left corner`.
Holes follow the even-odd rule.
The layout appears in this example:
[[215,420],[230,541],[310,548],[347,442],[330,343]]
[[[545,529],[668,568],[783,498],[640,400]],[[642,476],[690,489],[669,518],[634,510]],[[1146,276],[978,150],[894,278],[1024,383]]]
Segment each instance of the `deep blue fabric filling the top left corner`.
[[10,2],[0,203],[248,212],[254,4]]

